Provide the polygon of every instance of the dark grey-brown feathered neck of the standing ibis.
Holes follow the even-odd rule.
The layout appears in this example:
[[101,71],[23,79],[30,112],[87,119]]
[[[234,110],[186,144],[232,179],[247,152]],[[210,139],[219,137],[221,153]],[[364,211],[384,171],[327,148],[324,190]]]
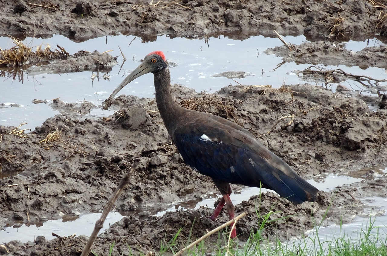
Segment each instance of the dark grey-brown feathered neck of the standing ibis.
[[171,75],[168,68],[154,73],[154,87],[156,89],[157,108],[168,133],[172,136],[178,120],[187,109],[177,104],[171,95]]

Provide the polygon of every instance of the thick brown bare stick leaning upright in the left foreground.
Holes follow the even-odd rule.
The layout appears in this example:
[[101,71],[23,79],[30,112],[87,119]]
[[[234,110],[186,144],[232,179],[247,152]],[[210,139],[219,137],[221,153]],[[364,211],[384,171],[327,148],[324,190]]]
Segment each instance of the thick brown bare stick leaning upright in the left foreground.
[[116,188],[116,191],[114,192],[113,196],[111,196],[110,200],[108,201],[108,204],[106,205],[105,210],[103,210],[101,218],[99,218],[99,220],[96,221],[96,224],[94,226],[94,230],[91,233],[89,241],[87,241],[87,244],[86,244],[85,248],[83,249],[82,254],[80,256],[86,256],[89,254],[91,246],[92,246],[94,240],[96,239],[99,230],[102,229],[103,222],[105,221],[106,217],[108,217],[108,214],[109,214],[111,208],[113,208],[113,205],[114,205],[115,201],[117,200],[118,195],[120,195],[121,191],[129,183],[130,176],[132,176],[134,170],[138,166],[139,166],[139,163],[135,162],[132,165],[132,168],[130,168],[130,171],[125,176],[122,177],[120,184],[118,184],[118,187]]

